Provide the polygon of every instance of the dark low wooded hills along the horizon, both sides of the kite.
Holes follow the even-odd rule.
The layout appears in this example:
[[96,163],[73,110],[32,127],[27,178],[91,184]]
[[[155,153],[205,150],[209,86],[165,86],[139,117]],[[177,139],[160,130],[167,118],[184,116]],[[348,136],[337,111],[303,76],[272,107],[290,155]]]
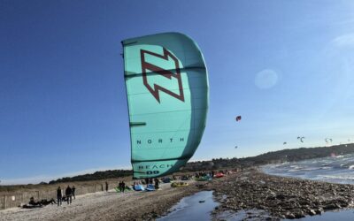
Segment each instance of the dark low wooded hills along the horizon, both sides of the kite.
[[[266,154],[258,156],[250,156],[243,158],[219,158],[209,161],[197,161],[188,163],[181,168],[181,172],[187,171],[204,171],[204,170],[218,170],[222,168],[245,168],[249,166],[260,166],[264,164],[279,164],[283,162],[294,162],[312,158],[327,157],[331,154],[346,155],[354,153],[354,144],[337,145],[332,147],[322,148],[300,148],[300,149],[282,149],[279,151],[267,152]],[[96,171],[80,176],[65,177],[62,179],[51,180],[49,184],[74,182],[74,181],[91,181],[99,179],[118,179],[122,177],[132,176],[131,170],[112,170],[112,171]],[[42,182],[41,186],[47,184]],[[33,185],[18,185],[18,186],[0,186],[0,191],[10,191],[12,187],[30,188]]]

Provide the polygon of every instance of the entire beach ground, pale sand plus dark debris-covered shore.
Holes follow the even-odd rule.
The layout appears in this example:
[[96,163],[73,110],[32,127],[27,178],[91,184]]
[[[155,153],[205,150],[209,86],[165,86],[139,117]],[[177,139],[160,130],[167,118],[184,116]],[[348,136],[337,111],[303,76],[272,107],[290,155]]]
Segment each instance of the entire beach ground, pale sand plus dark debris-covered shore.
[[[0,211],[0,220],[154,220],[165,215],[181,198],[201,190],[213,190],[220,203],[214,219],[224,212],[263,210],[250,214],[259,219],[300,218],[327,210],[353,208],[354,186],[304,179],[283,178],[248,170],[211,182],[189,180],[189,187],[161,185],[154,192],[127,192],[81,195],[71,205],[49,205],[40,209]],[[270,217],[269,217],[270,216]]]

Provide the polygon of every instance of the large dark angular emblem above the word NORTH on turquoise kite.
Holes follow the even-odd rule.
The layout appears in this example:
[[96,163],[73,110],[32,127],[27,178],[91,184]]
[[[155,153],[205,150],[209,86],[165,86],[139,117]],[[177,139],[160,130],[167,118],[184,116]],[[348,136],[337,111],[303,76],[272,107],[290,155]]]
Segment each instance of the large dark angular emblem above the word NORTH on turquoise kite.
[[[180,65],[178,63],[177,57],[174,57],[172,53],[170,53],[168,50],[164,49],[164,55],[159,55],[157,53],[151,52],[149,50],[140,50],[140,55],[142,59],[142,80],[143,84],[145,85],[146,88],[150,91],[151,95],[153,95],[158,103],[160,103],[160,96],[159,96],[159,90],[165,92],[167,95],[172,95],[173,97],[181,100],[184,102],[184,95],[183,95],[183,87],[182,87],[182,80],[181,80],[181,71],[180,71]],[[151,64],[149,62],[145,61],[145,55],[149,54],[150,56],[155,56],[162,58],[166,61],[172,59],[174,63],[174,69],[173,70],[165,70],[163,67],[159,67],[157,65]],[[161,85],[158,85],[157,83],[153,83],[152,85],[149,84],[148,78],[150,76],[150,73],[157,73],[169,80],[177,80],[178,81],[178,86],[180,93],[176,94],[173,91],[164,88]]]

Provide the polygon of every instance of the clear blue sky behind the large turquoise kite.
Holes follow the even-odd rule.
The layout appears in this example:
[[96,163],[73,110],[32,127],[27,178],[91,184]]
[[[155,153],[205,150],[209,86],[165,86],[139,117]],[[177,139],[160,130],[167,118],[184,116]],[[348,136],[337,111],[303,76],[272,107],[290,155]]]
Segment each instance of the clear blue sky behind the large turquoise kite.
[[192,160],[354,141],[352,1],[215,3],[1,1],[2,183],[130,168],[120,41],[160,32],[191,36],[208,65]]

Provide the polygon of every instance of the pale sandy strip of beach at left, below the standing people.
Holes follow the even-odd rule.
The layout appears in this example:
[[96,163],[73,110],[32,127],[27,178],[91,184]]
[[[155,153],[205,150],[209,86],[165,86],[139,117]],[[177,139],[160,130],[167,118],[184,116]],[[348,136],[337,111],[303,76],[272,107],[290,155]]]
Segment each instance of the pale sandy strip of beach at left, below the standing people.
[[38,209],[12,208],[0,210],[0,220],[147,220],[163,214],[183,196],[198,191],[189,181],[189,187],[172,188],[162,184],[154,192],[108,193],[98,192],[76,197],[71,205],[48,205]]

